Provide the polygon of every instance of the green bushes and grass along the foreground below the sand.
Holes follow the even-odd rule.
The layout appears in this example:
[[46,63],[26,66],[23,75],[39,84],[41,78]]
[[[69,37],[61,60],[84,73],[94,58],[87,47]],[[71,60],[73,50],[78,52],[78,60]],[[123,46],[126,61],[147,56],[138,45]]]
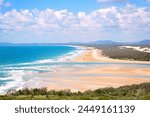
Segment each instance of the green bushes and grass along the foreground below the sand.
[[70,90],[23,89],[0,96],[1,100],[150,100],[150,83],[119,88],[102,88],[85,92]]

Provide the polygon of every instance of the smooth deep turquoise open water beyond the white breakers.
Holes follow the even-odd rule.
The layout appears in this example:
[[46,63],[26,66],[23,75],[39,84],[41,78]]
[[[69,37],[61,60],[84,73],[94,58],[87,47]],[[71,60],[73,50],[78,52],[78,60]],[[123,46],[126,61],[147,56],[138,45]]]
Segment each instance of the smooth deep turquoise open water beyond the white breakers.
[[0,65],[53,60],[74,50],[70,46],[1,46]]

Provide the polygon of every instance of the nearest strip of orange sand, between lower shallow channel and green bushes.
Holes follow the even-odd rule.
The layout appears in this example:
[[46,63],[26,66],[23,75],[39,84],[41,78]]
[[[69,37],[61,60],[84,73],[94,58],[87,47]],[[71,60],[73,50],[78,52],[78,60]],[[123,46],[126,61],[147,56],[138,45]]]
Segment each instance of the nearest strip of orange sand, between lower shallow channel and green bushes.
[[65,90],[70,89],[72,92],[95,90],[104,87],[119,87],[131,84],[140,84],[143,82],[150,82],[148,79],[134,79],[134,78],[113,78],[113,77],[82,77],[76,80],[72,79],[53,79],[57,83],[50,83],[49,90]]

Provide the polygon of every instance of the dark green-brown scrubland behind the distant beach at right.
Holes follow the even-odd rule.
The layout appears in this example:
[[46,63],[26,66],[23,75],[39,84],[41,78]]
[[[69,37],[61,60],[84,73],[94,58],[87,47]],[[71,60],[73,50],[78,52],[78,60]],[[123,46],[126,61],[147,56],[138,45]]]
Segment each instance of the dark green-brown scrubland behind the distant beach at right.
[[[99,44],[87,44],[85,46],[95,47],[101,49],[105,56],[112,59],[121,60],[136,60],[136,61],[150,61],[150,53],[133,50],[131,48],[120,49],[122,45],[99,45]],[[150,46],[140,46],[141,48]]]

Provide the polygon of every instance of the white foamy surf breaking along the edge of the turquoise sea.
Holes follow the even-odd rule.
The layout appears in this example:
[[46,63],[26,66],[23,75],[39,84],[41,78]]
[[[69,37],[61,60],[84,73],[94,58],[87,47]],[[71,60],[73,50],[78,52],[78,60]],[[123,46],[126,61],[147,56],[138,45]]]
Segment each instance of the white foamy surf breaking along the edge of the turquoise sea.
[[[72,61],[75,57],[84,52],[84,48],[82,47],[72,47],[76,49],[54,59],[43,59],[34,62],[0,65],[0,72],[8,74],[5,77],[2,77],[2,75],[0,76],[0,82],[2,82],[2,84],[0,84],[0,94],[6,93],[9,89],[18,90],[24,88],[24,85],[28,81],[36,79],[34,76],[33,79],[27,79],[26,75],[32,74],[32,72],[55,72],[55,69],[53,69],[55,63]],[[48,63],[54,64],[47,65]]]

